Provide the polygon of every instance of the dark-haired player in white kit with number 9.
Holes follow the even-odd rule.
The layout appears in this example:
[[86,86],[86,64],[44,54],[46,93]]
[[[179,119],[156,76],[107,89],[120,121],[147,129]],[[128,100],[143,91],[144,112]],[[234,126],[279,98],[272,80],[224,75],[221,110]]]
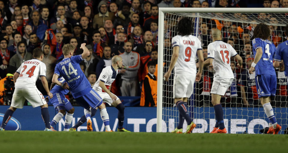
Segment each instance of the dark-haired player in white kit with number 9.
[[[177,36],[172,38],[173,54],[169,69],[164,75],[164,80],[168,81],[174,68],[173,98],[179,110],[179,124],[172,133],[182,133],[184,119],[187,122],[185,133],[191,133],[196,127],[189,116],[187,109],[188,98],[193,93],[195,81],[199,81],[203,69],[203,52],[201,41],[191,35],[193,32],[192,21],[185,17],[178,22]],[[197,73],[195,57],[199,57],[199,70]]]

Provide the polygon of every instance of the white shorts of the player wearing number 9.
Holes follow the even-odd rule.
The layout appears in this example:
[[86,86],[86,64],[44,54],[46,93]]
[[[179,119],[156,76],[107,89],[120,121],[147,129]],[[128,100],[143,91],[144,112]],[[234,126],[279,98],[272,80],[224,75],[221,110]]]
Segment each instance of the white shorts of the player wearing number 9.
[[173,98],[189,98],[194,90],[196,75],[174,75]]

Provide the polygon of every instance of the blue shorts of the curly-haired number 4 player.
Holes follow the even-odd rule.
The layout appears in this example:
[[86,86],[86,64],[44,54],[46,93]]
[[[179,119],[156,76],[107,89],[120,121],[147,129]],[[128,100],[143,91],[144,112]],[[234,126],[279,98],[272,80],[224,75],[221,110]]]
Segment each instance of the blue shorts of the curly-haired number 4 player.
[[256,88],[258,97],[275,96],[277,87],[277,78],[275,75],[262,74],[257,75]]

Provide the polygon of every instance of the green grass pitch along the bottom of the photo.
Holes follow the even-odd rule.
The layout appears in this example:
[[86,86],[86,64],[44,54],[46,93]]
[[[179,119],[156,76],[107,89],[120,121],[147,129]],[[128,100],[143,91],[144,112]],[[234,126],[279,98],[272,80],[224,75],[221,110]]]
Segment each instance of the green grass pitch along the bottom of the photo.
[[288,135],[0,131],[1,153],[288,152]]

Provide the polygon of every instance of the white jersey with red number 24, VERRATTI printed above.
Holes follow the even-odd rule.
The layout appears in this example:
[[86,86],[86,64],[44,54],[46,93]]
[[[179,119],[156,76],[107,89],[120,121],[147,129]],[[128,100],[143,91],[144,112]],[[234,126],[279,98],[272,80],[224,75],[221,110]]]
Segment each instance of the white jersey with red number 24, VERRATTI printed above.
[[15,88],[36,88],[36,80],[39,76],[46,77],[46,65],[38,59],[27,60],[16,71],[19,77]]

